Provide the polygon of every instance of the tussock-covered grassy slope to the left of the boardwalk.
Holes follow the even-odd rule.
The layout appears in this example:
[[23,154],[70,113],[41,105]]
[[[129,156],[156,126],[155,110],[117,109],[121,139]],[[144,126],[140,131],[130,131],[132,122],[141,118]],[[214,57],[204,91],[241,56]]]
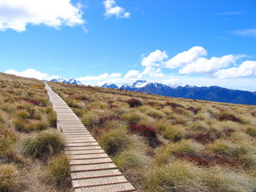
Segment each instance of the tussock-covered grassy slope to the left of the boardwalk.
[[[0,74],[1,192],[62,191],[52,173],[54,163],[66,157],[55,156],[62,152],[63,141],[54,126],[56,114],[43,82]],[[59,148],[51,148],[50,141]]]

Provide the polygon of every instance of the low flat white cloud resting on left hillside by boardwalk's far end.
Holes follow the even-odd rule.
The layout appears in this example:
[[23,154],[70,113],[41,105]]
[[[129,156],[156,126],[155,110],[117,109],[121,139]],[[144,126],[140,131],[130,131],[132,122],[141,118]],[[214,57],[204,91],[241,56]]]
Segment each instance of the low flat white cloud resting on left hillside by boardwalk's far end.
[[34,69],[27,69],[21,72],[18,72],[16,70],[6,70],[5,72],[6,74],[14,74],[17,76],[21,76],[24,78],[37,78],[40,80],[50,80],[52,78],[58,78],[57,75],[55,76],[49,76],[48,74],[44,74],[38,70],[34,70]]

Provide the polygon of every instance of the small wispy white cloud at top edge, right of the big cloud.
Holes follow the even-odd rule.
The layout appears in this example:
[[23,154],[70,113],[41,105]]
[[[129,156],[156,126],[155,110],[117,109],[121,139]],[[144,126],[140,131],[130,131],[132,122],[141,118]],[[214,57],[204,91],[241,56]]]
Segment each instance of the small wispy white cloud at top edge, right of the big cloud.
[[103,1],[105,7],[105,16],[106,18],[110,18],[111,16],[116,16],[117,18],[130,18],[130,13],[126,12],[124,8],[121,6],[116,6],[116,2],[114,0],[106,0]]

